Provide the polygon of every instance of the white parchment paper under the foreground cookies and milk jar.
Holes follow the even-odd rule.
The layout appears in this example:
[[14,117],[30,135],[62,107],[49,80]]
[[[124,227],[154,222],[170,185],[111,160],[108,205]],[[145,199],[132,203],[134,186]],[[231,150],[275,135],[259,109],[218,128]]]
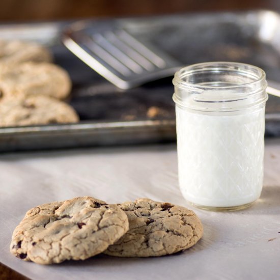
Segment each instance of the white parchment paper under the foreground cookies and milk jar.
[[[9,253],[30,208],[92,195],[108,203],[136,198],[193,209],[204,237],[181,254],[158,258],[96,256],[38,265]],[[190,207],[177,181],[175,145],[80,149],[0,156],[0,262],[33,279],[277,279],[280,275],[280,139],[266,139],[261,199],[238,212]]]

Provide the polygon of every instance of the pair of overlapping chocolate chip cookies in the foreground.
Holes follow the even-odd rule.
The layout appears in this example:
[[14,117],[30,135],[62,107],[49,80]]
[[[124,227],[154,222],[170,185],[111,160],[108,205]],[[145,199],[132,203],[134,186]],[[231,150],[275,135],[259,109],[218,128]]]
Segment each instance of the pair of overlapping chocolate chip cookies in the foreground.
[[39,264],[117,257],[163,256],[202,237],[200,219],[187,208],[138,199],[113,205],[92,197],[37,206],[13,233],[11,253]]

